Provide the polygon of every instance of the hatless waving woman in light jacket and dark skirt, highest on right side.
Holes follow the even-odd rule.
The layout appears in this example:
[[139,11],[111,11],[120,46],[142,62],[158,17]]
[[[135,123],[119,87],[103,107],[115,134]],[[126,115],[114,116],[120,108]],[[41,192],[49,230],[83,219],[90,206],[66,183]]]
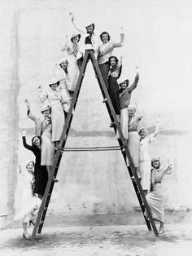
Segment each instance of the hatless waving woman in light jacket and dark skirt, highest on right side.
[[108,73],[109,73],[109,58],[112,55],[112,51],[116,47],[121,47],[124,44],[124,32],[121,28],[120,32],[120,42],[111,42],[110,41],[110,35],[106,31],[100,34],[100,38],[102,43],[98,46],[98,67],[102,73],[104,83],[107,87],[107,90],[109,89],[108,86]]

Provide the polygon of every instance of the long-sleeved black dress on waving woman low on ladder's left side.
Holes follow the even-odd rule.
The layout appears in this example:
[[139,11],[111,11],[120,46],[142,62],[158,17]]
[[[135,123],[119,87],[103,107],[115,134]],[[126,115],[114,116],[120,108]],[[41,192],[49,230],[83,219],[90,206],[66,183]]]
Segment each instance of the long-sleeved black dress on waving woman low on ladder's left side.
[[46,166],[41,166],[41,149],[37,148],[36,146],[30,146],[26,143],[26,138],[22,137],[24,148],[32,151],[35,155],[35,168],[34,168],[34,190],[33,192],[38,195],[44,194],[46,190],[46,183],[48,181],[48,174],[46,170]]

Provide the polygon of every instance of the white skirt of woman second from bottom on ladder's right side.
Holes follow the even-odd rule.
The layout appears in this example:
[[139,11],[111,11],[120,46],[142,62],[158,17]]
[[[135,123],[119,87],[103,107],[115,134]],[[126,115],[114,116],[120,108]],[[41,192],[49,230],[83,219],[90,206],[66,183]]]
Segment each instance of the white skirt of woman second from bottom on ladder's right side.
[[142,176],[142,189],[150,191],[151,188],[151,160],[140,161],[139,171]]

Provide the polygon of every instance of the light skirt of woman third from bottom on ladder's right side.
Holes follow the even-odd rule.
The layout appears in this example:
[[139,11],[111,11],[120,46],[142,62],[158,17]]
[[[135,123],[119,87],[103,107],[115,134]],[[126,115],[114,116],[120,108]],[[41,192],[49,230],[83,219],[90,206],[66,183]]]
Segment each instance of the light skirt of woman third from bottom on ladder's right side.
[[135,167],[139,166],[139,143],[139,135],[137,131],[130,131],[128,148]]

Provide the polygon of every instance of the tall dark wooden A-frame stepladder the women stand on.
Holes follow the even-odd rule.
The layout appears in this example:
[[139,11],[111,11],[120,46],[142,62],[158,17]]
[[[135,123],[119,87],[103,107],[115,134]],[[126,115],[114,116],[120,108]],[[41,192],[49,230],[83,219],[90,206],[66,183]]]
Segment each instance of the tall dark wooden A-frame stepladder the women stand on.
[[[108,91],[107,91],[107,88],[106,88],[105,83],[103,81],[103,77],[102,77],[102,74],[100,72],[100,69],[98,68],[98,63],[95,60],[94,50],[86,50],[85,51],[85,57],[84,57],[84,60],[82,62],[82,65],[81,65],[81,71],[80,71],[80,74],[79,74],[79,77],[78,77],[78,80],[77,80],[77,83],[76,83],[76,89],[74,91],[74,95],[72,97],[72,102],[71,102],[71,105],[70,105],[70,108],[69,108],[69,111],[68,111],[68,116],[66,118],[65,126],[63,128],[63,134],[62,134],[60,142],[59,142],[59,148],[57,148],[57,151],[55,153],[54,164],[53,164],[52,169],[50,171],[50,177],[49,177],[49,180],[48,180],[47,185],[46,185],[46,191],[45,191],[44,196],[43,196],[42,201],[41,201],[41,206],[40,206],[40,209],[39,209],[38,214],[37,214],[36,223],[33,227],[32,240],[35,239],[36,233],[41,233],[41,229],[42,229],[43,223],[44,223],[45,218],[46,218],[46,211],[47,211],[49,203],[50,203],[50,196],[52,194],[52,191],[53,191],[53,188],[54,188],[54,185],[55,185],[55,183],[52,182],[52,179],[53,179],[53,177],[56,177],[56,175],[58,173],[59,163],[61,161],[61,157],[62,157],[62,154],[64,152],[65,143],[66,143],[67,138],[68,138],[68,131],[70,129],[71,122],[72,122],[72,117],[73,117],[72,113],[73,113],[73,110],[75,110],[75,108],[76,108],[76,102],[77,102],[77,99],[78,99],[78,96],[79,96],[79,93],[80,93],[80,90],[81,90],[81,84],[82,84],[82,81],[83,81],[83,78],[84,78],[84,75],[85,75],[85,69],[86,69],[86,66],[87,66],[89,60],[91,60],[91,62],[93,64],[94,72],[95,72],[96,77],[98,79],[98,85],[99,85],[99,87],[102,91],[103,97],[105,99],[107,99],[106,100],[107,111],[109,113],[111,121],[115,122],[115,124],[116,124],[115,130],[117,130],[119,135],[120,135],[120,139],[118,139],[118,142],[120,144],[121,152],[124,156],[125,164],[126,164],[126,157],[129,159],[129,166],[127,166],[127,165],[126,166],[127,166],[128,171],[129,171],[129,175],[130,175],[130,178],[132,180],[133,188],[136,192],[137,199],[139,201],[139,205],[141,206],[142,214],[143,214],[143,216],[145,218],[145,221],[146,221],[146,226],[148,227],[148,230],[151,230],[151,228],[153,229],[153,232],[155,233],[155,236],[159,236],[159,233],[158,233],[157,228],[155,226],[155,221],[154,221],[154,219],[152,218],[152,215],[151,215],[151,210],[150,210],[149,205],[146,201],[146,196],[143,193],[140,180],[138,179],[136,168],[133,165],[133,161],[132,161],[132,158],[131,158],[130,153],[129,153],[128,145],[127,145],[127,143],[124,139],[124,136],[122,134],[122,131],[120,129],[120,124],[116,119],[115,110],[114,110],[114,108],[111,104],[111,99],[108,95]],[[146,213],[148,215],[148,218],[146,218],[146,216],[144,215],[145,210],[146,210]]]

